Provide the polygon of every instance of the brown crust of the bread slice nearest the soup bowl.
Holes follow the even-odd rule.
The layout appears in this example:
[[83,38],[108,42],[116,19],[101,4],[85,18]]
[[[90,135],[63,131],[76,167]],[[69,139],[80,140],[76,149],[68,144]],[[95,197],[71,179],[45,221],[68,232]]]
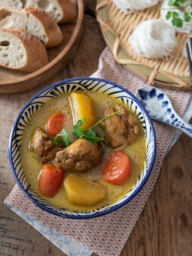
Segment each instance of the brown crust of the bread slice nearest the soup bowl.
[[[43,66],[47,65],[47,51],[44,47],[44,44],[31,33],[23,29],[0,29],[0,32],[7,32],[11,36],[16,36],[20,39],[23,48],[26,51],[26,64],[17,69],[23,72],[35,72],[38,69],[41,69]],[[3,65],[2,65],[3,66]],[[11,68],[9,66],[4,66],[5,68]]]

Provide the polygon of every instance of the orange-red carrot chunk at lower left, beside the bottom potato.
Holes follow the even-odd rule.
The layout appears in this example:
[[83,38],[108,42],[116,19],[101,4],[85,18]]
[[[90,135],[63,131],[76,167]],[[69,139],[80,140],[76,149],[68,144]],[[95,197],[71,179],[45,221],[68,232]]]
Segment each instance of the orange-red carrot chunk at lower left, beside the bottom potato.
[[38,188],[46,197],[54,197],[62,185],[63,171],[53,163],[47,163],[41,169]]

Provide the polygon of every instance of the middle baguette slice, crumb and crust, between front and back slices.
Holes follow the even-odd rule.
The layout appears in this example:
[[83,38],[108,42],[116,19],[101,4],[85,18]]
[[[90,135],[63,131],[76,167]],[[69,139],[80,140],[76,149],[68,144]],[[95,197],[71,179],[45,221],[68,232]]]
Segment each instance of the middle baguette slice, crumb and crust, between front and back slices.
[[36,35],[45,47],[62,42],[62,32],[55,20],[39,8],[0,8],[0,28],[26,30]]

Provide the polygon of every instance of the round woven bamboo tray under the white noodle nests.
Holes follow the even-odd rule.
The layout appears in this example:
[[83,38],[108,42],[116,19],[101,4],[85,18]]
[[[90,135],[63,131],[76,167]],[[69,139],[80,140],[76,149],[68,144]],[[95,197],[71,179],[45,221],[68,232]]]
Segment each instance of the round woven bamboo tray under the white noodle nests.
[[178,90],[192,89],[187,58],[182,53],[187,34],[176,34],[177,47],[168,60],[137,56],[128,42],[139,23],[160,17],[157,5],[127,15],[118,10],[111,0],[97,0],[96,17],[114,59],[127,70],[153,86]]

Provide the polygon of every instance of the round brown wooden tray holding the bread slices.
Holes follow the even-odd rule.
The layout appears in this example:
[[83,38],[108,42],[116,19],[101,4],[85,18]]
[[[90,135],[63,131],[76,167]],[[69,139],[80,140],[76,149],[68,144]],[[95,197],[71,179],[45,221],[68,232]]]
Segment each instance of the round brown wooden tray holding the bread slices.
[[36,72],[25,73],[11,69],[0,68],[0,93],[17,93],[32,89],[38,84],[53,78],[53,75],[72,59],[78,47],[83,30],[84,5],[83,0],[77,1],[78,17],[72,23],[60,26],[63,42],[58,47],[47,50],[49,62]]

